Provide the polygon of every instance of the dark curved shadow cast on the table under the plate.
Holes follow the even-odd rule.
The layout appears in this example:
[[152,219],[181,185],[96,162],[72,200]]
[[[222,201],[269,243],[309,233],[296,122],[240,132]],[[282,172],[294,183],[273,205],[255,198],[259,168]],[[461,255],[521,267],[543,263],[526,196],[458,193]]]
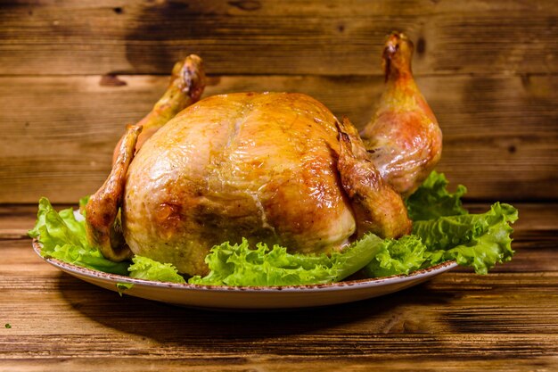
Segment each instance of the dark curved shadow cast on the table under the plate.
[[[233,342],[318,334],[430,333],[431,319],[417,306],[443,305],[455,293],[428,284],[361,302],[303,310],[226,311],[181,308],[104,290],[61,273],[59,288],[70,306],[105,327],[160,343]],[[424,313],[424,311],[421,311]],[[429,324],[430,323],[430,324]],[[342,329],[342,332],[341,332]],[[337,332],[337,331],[340,332]]]

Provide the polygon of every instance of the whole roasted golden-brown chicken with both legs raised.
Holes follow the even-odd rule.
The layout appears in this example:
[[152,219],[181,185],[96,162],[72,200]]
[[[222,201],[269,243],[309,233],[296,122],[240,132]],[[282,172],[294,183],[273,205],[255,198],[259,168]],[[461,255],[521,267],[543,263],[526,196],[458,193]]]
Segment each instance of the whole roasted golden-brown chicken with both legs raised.
[[308,95],[199,101],[203,67],[189,56],[115,149],[109,178],[86,205],[88,239],[110,260],[138,254],[205,275],[209,249],[242,237],[315,253],[342,250],[369,232],[408,234],[403,198],[441,153],[412,54],[405,35],[388,37],[385,92],[361,135]]

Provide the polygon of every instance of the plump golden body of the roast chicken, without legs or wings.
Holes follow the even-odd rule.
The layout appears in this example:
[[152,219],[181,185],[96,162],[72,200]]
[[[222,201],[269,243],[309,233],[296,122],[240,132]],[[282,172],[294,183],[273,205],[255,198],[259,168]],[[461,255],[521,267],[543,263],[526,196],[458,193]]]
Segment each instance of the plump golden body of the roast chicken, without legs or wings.
[[324,252],[356,229],[336,157],[336,119],[300,94],[215,95],[190,106],[136,154],[124,234],[136,254],[203,274],[214,244]]

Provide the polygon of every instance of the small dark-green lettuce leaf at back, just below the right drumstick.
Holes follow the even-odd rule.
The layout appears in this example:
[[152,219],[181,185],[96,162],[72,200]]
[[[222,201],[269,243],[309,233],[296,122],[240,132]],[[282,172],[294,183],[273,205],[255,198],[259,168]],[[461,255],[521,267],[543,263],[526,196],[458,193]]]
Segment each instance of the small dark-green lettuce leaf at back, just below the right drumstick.
[[461,202],[461,197],[467,192],[465,186],[457,186],[455,193],[451,194],[447,191],[447,185],[443,173],[432,171],[423,185],[406,200],[409,218],[420,221],[467,214]]

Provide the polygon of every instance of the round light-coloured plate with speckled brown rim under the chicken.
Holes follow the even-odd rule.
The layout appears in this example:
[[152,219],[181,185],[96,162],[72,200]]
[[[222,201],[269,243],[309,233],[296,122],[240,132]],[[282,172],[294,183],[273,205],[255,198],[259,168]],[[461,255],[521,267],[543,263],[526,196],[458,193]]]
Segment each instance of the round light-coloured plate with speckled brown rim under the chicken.
[[45,259],[40,254],[41,248],[37,241],[33,241],[33,249],[54,267],[111,291],[117,292],[119,283],[129,283],[133,286],[123,293],[131,296],[180,306],[214,309],[295,309],[354,302],[418,285],[457,266],[455,261],[447,261],[408,276],[352,280],[328,285],[207,286],[153,282],[107,274],[61,260]]

